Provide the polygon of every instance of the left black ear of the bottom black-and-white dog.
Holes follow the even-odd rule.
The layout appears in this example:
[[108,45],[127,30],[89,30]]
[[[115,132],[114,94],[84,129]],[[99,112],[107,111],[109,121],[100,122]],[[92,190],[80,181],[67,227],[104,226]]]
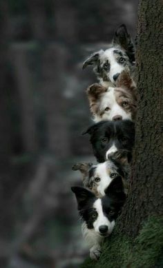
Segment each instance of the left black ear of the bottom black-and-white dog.
[[95,198],[95,194],[84,187],[74,186],[71,187],[71,190],[77,198],[78,209],[81,209],[90,198]]

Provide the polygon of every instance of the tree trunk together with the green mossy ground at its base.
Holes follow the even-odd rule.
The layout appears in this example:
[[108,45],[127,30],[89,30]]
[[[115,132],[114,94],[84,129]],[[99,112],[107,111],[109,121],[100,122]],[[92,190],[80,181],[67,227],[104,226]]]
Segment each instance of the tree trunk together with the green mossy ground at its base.
[[137,121],[128,198],[97,264],[162,267],[162,1],[139,1],[136,41]]

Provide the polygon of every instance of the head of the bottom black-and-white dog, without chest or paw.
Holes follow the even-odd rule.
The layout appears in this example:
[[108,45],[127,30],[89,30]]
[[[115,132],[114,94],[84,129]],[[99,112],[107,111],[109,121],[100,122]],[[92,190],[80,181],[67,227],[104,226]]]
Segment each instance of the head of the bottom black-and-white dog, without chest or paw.
[[79,214],[88,229],[94,229],[99,236],[109,236],[126,200],[122,179],[114,178],[102,198],[97,198],[83,187],[71,189],[77,198]]

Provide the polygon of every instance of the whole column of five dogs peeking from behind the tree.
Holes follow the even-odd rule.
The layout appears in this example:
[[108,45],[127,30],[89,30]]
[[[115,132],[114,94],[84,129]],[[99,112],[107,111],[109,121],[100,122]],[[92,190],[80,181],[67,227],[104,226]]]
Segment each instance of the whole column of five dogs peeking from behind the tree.
[[90,258],[96,260],[102,238],[111,234],[124,205],[131,174],[137,108],[134,52],[130,34],[121,25],[109,48],[90,55],[83,65],[92,65],[99,80],[86,89],[95,124],[83,132],[90,135],[98,163],[73,165],[73,170],[81,172],[84,187],[72,187],[72,191],[84,221]]

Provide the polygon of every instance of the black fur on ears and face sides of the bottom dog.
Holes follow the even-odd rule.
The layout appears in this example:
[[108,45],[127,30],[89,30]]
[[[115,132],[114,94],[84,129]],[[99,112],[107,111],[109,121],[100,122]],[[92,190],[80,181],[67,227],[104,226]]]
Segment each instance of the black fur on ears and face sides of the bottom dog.
[[[71,189],[77,198],[81,218],[86,222],[88,229],[93,229],[93,223],[98,216],[93,207],[97,198],[92,192],[83,187],[72,187]],[[117,218],[125,200],[126,194],[124,194],[122,178],[117,177],[108,185],[106,196],[102,197],[102,209],[108,220],[113,221]]]

